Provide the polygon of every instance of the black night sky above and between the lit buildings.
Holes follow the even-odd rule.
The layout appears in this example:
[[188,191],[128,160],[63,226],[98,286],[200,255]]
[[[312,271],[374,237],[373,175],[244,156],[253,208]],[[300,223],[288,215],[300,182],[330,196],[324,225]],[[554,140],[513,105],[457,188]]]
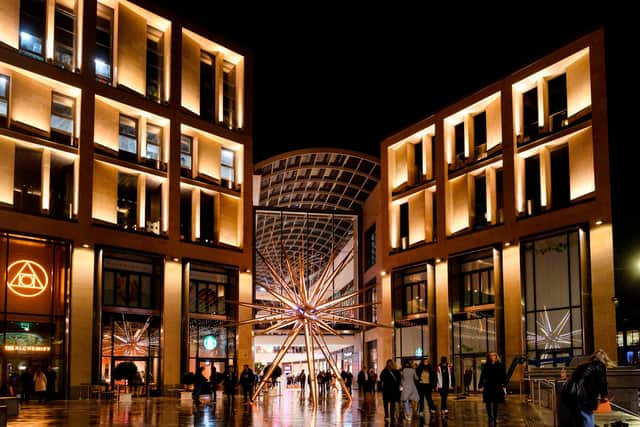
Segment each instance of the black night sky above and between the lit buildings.
[[396,2],[359,9],[331,2],[304,3],[304,9],[216,2],[208,6],[212,13],[195,0],[156,3],[253,53],[256,163],[327,146],[379,157],[384,138],[604,28],[616,292],[621,319],[637,316],[640,215],[632,171],[640,138],[632,130],[638,127],[640,70],[630,62],[640,53],[640,24],[624,18],[630,11],[614,10],[611,2],[597,10],[587,3],[570,10],[559,2],[535,3],[505,19],[504,11],[463,3],[433,13]]

